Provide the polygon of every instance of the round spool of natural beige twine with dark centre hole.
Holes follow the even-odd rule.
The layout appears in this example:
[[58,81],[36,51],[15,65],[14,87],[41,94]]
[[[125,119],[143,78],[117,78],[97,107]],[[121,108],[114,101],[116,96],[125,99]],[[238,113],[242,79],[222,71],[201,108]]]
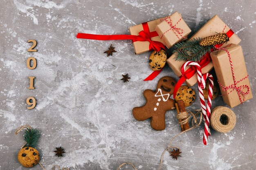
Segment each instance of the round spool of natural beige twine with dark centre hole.
[[236,125],[235,113],[227,107],[218,106],[211,113],[211,127],[222,133],[229,132]]

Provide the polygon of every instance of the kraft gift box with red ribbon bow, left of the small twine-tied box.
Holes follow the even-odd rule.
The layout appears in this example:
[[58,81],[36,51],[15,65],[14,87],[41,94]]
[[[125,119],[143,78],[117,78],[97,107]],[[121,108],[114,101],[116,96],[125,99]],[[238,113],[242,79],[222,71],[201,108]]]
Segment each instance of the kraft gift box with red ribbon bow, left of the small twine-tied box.
[[[161,40],[161,38],[158,36],[157,32],[155,31],[155,27],[158,24],[160,24],[160,22],[162,22],[162,20],[165,19],[165,18],[166,17],[163,17],[163,18],[159,18],[159,19],[156,19],[156,20],[151,20],[151,21],[148,21],[148,22],[144,22],[142,24],[138,24],[138,25],[135,25],[135,26],[131,26],[129,28],[130,34],[131,35],[139,35],[139,32],[144,30],[144,26],[146,26],[146,27],[148,26],[148,29],[150,31],[150,37],[151,37],[150,39],[152,41],[158,41],[158,42],[161,42],[163,44],[163,41]],[[142,53],[146,53],[146,52],[149,51],[149,42],[148,41],[135,41],[132,44],[133,44],[133,47],[134,47],[135,54],[142,54]]]

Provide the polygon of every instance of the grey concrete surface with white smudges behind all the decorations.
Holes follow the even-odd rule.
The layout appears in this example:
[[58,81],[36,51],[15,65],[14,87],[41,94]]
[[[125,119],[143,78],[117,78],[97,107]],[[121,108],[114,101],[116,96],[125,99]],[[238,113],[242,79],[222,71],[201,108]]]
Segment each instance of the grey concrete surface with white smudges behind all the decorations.
[[[115,170],[127,161],[138,169],[157,169],[162,151],[180,132],[176,112],[166,113],[166,129],[157,132],[149,120],[136,121],[131,110],[144,104],[143,91],[154,90],[160,77],[178,78],[166,66],[156,79],[144,82],[151,73],[150,52],[135,55],[129,40],[81,40],[76,33],[129,34],[130,26],[178,11],[192,35],[218,14],[242,39],[256,97],[255,7],[255,0],[1,0],[0,169],[30,169],[16,158],[24,140],[23,132],[14,131],[22,124],[41,130],[38,150],[47,170],[56,163],[71,170]],[[27,52],[29,39],[37,40],[38,52]],[[106,57],[110,44],[118,52]],[[31,56],[38,62],[34,70],[26,66]],[[130,82],[120,80],[125,73]],[[27,88],[28,76],[36,77],[36,89]],[[38,102],[35,109],[26,108],[29,96]],[[177,137],[173,145],[182,157],[175,161],[166,153],[162,169],[255,169],[255,103],[254,98],[233,108],[236,127],[227,134],[212,130],[208,146],[202,144],[203,126]],[[215,106],[225,106],[221,97]],[[198,108],[197,98],[190,109]],[[54,156],[57,146],[65,148],[64,157]],[[41,170],[39,165],[31,169]]]

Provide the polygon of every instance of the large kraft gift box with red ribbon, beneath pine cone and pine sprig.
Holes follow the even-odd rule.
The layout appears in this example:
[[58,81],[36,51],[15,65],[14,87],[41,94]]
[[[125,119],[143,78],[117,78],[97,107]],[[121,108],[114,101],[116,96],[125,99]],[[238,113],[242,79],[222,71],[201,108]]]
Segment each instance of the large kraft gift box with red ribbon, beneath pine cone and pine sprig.
[[[205,38],[210,35],[216,35],[216,33],[227,33],[229,37],[229,42],[223,44],[222,47],[225,47],[229,44],[239,44],[241,41],[240,38],[218,17],[218,15],[213,16],[204,26],[202,26],[194,35],[192,35],[189,40],[193,40],[194,38]],[[214,51],[215,49],[212,49]],[[180,68],[182,64],[186,61],[177,61],[175,60],[176,53],[173,53],[171,57],[166,60],[167,64],[172,68],[174,73],[180,77],[181,81],[179,84],[181,85],[184,81],[188,86],[193,86],[197,81],[196,68],[191,66],[184,72],[182,75]],[[210,53],[207,53],[205,56],[202,56],[202,60],[198,62],[202,68],[202,73],[208,73],[213,68],[213,64],[211,62]]]

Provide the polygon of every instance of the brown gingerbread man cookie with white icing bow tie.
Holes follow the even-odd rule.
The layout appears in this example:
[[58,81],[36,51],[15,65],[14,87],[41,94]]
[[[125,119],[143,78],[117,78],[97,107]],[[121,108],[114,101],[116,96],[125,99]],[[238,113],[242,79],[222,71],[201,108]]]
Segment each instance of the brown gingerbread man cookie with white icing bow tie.
[[176,81],[172,77],[162,77],[157,83],[157,90],[145,90],[143,95],[146,99],[144,106],[132,109],[135,119],[144,121],[151,118],[151,127],[155,130],[165,129],[165,113],[175,109],[175,102],[170,99]]

